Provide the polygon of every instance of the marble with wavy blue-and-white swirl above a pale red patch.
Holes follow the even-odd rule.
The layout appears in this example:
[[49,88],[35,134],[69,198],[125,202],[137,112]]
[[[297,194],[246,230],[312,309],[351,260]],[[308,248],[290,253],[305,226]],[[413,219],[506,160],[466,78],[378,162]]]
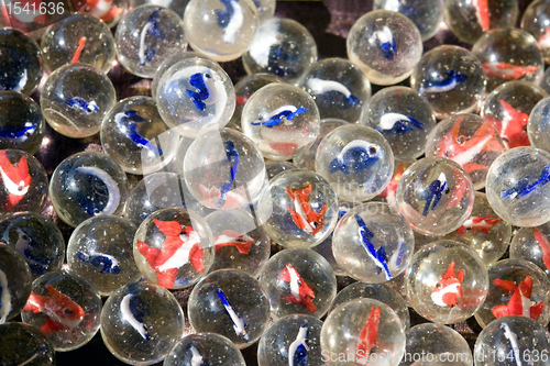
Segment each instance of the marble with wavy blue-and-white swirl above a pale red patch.
[[271,84],[249,99],[242,111],[241,126],[264,157],[287,160],[316,140],[319,109],[300,88]]

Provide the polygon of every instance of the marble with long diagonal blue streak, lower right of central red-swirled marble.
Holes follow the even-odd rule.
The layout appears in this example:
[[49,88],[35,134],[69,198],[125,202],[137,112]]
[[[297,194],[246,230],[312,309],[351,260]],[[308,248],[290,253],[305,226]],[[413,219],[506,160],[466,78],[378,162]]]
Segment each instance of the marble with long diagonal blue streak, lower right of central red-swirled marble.
[[332,236],[337,263],[349,276],[367,284],[385,282],[403,273],[414,247],[409,223],[382,202],[354,207]]

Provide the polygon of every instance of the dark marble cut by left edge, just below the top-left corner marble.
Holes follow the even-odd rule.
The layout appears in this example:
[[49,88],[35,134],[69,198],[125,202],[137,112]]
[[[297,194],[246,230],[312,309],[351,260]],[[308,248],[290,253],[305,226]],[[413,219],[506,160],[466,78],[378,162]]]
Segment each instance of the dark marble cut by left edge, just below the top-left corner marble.
[[30,96],[42,79],[40,47],[14,29],[0,30],[0,88]]

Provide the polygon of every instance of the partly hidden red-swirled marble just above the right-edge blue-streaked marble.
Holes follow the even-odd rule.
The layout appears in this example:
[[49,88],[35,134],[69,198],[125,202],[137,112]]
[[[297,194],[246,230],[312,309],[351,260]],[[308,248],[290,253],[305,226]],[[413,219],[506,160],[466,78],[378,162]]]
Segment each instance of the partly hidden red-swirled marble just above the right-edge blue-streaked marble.
[[506,147],[529,146],[529,113],[544,97],[547,92],[531,82],[508,81],[488,95],[481,115],[497,129]]

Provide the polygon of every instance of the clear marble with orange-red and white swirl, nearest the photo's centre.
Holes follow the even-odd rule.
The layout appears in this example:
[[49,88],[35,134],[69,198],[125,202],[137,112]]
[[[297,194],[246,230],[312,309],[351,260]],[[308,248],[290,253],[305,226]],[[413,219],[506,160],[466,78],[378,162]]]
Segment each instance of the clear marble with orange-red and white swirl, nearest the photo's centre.
[[272,241],[285,247],[308,248],[332,232],[338,221],[338,198],[320,175],[288,170],[262,191],[256,212]]

